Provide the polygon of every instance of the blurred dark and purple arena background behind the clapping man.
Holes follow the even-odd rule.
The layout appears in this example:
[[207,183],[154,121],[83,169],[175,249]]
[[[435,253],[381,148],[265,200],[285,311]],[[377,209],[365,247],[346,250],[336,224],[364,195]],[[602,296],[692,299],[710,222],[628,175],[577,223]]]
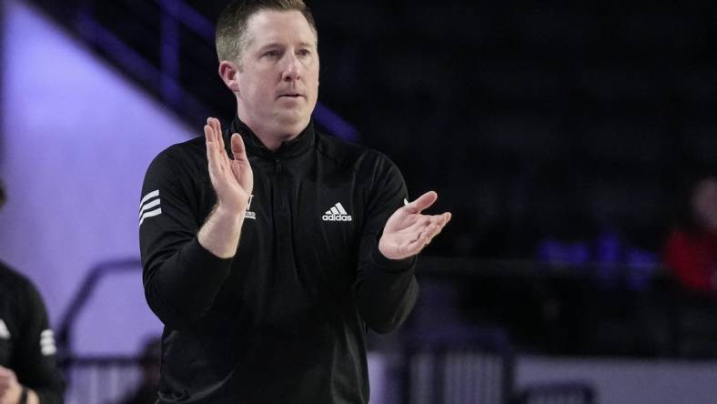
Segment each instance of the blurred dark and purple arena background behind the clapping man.
[[[68,402],[118,402],[151,359],[139,190],[233,117],[225,4],[3,2],[0,259],[45,296]],[[664,260],[717,175],[713,2],[308,5],[318,125],[453,212],[409,323],[372,339],[371,402],[714,402],[717,295]]]

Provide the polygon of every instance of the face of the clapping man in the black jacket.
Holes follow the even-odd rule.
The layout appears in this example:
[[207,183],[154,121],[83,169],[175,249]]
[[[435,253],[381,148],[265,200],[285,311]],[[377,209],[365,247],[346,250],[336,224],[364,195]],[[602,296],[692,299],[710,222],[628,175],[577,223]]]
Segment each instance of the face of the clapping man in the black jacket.
[[238,66],[238,113],[252,129],[296,136],[318,96],[317,39],[298,11],[264,10],[247,23]]

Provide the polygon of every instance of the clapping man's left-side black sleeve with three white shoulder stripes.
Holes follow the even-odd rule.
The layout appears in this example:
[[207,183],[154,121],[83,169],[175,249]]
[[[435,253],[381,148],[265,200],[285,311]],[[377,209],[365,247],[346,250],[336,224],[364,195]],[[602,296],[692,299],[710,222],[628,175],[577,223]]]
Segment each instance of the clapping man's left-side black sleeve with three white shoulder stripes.
[[139,244],[149,307],[169,328],[186,328],[211,308],[231,258],[197,240],[199,173],[175,164],[167,150],[147,168],[139,207]]

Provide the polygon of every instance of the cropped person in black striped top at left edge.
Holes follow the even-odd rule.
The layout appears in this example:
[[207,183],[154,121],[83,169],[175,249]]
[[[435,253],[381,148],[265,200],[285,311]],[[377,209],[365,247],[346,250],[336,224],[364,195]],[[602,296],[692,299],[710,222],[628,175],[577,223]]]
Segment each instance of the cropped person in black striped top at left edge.
[[[5,195],[0,187],[0,207]],[[63,402],[45,304],[29,279],[0,262],[0,404]]]

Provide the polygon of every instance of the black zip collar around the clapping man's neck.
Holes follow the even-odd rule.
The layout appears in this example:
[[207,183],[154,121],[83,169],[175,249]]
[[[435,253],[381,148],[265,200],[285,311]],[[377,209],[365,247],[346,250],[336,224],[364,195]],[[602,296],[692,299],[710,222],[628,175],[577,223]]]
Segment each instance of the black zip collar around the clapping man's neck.
[[238,116],[234,117],[234,121],[229,126],[229,130],[224,133],[225,145],[227,146],[227,153],[231,156],[231,134],[238,133],[244,140],[244,145],[247,147],[247,154],[253,156],[260,156],[265,158],[284,158],[284,157],[296,157],[302,155],[308,151],[309,148],[314,146],[316,141],[316,134],[314,132],[314,121],[308,122],[308,126],[301,131],[298,136],[291,140],[281,143],[277,151],[271,151],[261,143],[258,136],[249,129],[244,122],[242,122]]

